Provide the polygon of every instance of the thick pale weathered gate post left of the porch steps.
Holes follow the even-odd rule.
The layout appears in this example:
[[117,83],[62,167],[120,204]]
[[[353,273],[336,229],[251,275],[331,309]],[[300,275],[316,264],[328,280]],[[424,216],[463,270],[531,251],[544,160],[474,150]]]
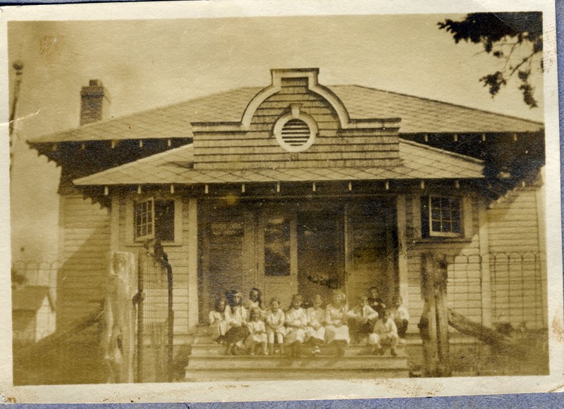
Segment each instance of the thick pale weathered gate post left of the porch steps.
[[133,382],[135,357],[135,306],[137,270],[135,254],[108,253],[108,277],[104,302],[102,351],[108,370],[107,382]]

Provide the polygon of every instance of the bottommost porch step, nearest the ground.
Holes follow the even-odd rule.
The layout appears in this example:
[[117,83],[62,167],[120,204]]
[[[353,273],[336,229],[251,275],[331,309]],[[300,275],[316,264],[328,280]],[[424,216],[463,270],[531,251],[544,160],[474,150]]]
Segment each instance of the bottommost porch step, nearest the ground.
[[269,368],[257,370],[186,370],[185,382],[247,382],[267,380],[316,380],[316,379],[380,379],[407,378],[410,376],[407,366],[402,369],[372,369],[372,370],[326,370],[301,369],[281,370]]

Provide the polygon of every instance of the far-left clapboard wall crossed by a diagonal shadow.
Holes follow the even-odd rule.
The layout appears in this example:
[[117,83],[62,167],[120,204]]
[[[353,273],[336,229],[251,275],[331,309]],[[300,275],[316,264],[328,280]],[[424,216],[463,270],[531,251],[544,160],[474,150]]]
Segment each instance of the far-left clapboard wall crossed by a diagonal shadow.
[[57,284],[57,327],[91,313],[102,301],[106,253],[110,249],[109,211],[82,195],[61,199],[61,255]]

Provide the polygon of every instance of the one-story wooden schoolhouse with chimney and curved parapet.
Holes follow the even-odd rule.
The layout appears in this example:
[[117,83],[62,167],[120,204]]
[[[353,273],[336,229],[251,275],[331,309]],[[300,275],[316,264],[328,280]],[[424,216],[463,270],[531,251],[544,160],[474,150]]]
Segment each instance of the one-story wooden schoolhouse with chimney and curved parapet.
[[418,332],[429,251],[450,260],[451,308],[546,327],[544,125],[318,73],[111,120],[101,82],[82,89],[84,125],[30,141],[62,167],[58,326],[102,298],[106,252],[159,239],[177,342],[252,287],[286,307],[376,286]]

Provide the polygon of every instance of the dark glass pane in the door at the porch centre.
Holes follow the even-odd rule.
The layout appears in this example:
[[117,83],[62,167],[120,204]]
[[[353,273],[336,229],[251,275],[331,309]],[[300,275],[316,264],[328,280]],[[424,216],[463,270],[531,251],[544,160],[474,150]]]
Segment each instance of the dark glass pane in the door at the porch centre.
[[268,218],[264,225],[264,275],[290,275],[290,219]]

